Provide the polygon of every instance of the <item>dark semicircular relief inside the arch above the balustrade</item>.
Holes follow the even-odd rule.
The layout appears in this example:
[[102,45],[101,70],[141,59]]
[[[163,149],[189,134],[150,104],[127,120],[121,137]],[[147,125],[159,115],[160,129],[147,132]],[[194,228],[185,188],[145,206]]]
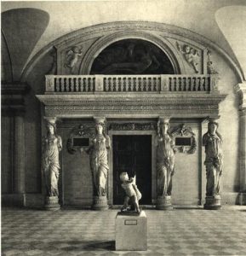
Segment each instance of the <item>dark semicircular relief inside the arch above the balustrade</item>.
[[174,67],[155,44],[141,39],[123,39],[100,52],[90,74],[174,74]]

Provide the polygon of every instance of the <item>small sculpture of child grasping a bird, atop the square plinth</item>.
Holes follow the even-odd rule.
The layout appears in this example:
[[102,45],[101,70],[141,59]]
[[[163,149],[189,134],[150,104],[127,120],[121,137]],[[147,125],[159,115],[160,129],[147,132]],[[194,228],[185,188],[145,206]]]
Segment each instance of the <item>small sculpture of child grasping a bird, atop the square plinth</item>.
[[[123,182],[122,187],[125,191],[124,205],[121,209],[122,212],[127,212],[134,210],[140,214],[139,201],[142,197],[140,190],[135,184],[135,177],[129,178],[127,172],[122,172],[120,174],[120,179]],[[130,206],[129,206],[130,204]]]

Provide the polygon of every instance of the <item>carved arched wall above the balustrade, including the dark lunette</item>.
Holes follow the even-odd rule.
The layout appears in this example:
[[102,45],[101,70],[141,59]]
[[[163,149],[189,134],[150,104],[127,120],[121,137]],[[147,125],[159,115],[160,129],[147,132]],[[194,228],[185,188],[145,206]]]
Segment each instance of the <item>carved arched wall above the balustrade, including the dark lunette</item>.
[[[134,47],[131,48],[133,44],[126,45],[125,43],[127,41],[128,43],[141,41],[141,48],[138,50]],[[110,46],[112,49],[117,44],[121,44],[121,49],[114,50],[114,55],[116,53],[123,55],[128,53],[132,56],[132,59],[140,59],[142,57],[145,58],[146,62],[148,59],[152,59],[151,70],[149,67],[144,71],[133,67],[127,73],[207,73],[208,56],[203,39],[196,38],[195,36],[192,37],[188,32],[172,32],[168,26],[152,22],[115,22],[101,24],[99,26],[84,28],[72,35],[67,35],[66,38],[54,43],[57,49],[57,73],[126,73],[123,70],[119,71],[115,65],[113,66],[114,68],[110,68],[110,65],[107,65],[109,61],[108,56],[110,55],[108,47]],[[152,47],[145,49],[144,44],[152,45]],[[105,50],[108,54],[107,60],[104,60],[104,63],[99,63],[99,59],[97,58],[100,58],[100,61],[102,61],[102,55],[105,55]],[[122,52],[120,53],[120,51]],[[163,58],[161,56],[163,54],[167,55],[169,60],[167,59],[162,64],[160,62],[162,62]],[[153,61],[152,56],[155,56],[155,61]],[[117,58],[115,59],[117,61]],[[129,62],[125,61],[121,63],[133,64],[136,62],[130,60],[131,58],[129,56]],[[169,65],[166,66],[169,61],[174,67],[174,70],[172,68],[170,69],[168,67]],[[153,71],[154,67],[157,67],[158,62],[162,64],[160,67],[166,67],[166,70],[162,71],[160,68],[157,68],[156,71]]]

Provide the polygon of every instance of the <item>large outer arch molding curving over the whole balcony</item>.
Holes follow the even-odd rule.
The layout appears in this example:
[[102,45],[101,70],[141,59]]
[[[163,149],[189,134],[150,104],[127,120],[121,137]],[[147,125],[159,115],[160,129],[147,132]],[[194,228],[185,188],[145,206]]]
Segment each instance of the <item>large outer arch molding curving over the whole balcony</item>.
[[[217,51],[220,55],[224,56],[226,61],[228,61],[232,67],[234,67],[238,78],[243,81],[243,73],[240,67],[238,67],[237,62],[232,59],[232,57],[226,54],[224,49],[221,49],[220,46],[213,43],[207,38],[197,34],[196,32],[191,32],[179,26],[173,26],[163,23],[150,22],[150,21],[117,21],[110,22],[105,24],[99,24],[95,26],[89,26],[77,30],[76,32],[71,32],[70,34],[66,34],[65,36],[54,40],[45,48],[40,50],[37,55],[34,55],[27,64],[21,80],[25,81],[28,74],[31,72],[32,67],[35,66],[37,61],[39,61],[43,55],[49,52],[50,49],[55,45],[55,47],[61,47],[62,44],[66,45],[75,45],[78,43],[78,39],[83,38],[83,42],[89,40],[89,38],[93,37],[103,37],[108,35],[110,32],[129,32],[129,31],[145,31],[148,33],[152,33],[160,37],[160,35],[164,38],[174,38],[175,40],[188,39],[196,42],[196,44],[201,44],[201,47],[206,47],[209,49],[213,49]],[[168,40],[167,40],[168,41]],[[81,42],[82,43],[82,42]],[[203,48],[202,47],[202,48]],[[181,72],[182,73],[182,72]]]

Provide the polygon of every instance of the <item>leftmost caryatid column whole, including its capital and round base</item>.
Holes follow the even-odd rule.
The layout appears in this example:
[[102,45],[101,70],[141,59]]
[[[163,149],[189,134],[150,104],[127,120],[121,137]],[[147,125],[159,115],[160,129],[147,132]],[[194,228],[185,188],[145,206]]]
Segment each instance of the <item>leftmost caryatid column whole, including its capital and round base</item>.
[[60,160],[62,149],[61,137],[56,132],[56,118],[44,117],[46,121],[46,136],[43,137],[42,148],[42,179],[45,194],[44,208],[46,210],[59,210],[59,179]]

